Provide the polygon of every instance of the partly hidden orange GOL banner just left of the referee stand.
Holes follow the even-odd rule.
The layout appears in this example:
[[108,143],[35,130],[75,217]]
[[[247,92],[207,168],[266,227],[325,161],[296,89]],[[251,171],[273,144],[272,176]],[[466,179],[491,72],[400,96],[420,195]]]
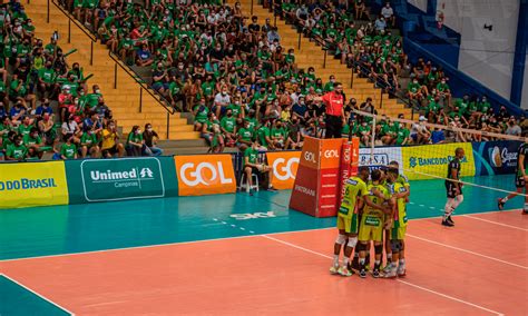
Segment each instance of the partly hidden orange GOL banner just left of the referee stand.
[[273,187],[281,190],[293,188],[301,151],[266,152],[266,157],[273,168]]

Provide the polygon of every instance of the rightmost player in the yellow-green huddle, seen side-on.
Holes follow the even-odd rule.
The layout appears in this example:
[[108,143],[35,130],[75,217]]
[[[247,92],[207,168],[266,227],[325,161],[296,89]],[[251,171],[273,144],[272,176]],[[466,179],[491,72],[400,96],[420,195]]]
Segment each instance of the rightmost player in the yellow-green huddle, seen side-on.
[[405,276],[405,258],[400,256],[404,251],[404,239],[407,233],[407,208],[405,196],[408,195],[405,187],[398,182],[399,171],[391,168],[387,172],[387,180],[391,187],[391,206],[392,213],[385,223],[385,227],[390,228],[390,240],[392,261],[388,268],[385,278],[395,278],[397,276]]

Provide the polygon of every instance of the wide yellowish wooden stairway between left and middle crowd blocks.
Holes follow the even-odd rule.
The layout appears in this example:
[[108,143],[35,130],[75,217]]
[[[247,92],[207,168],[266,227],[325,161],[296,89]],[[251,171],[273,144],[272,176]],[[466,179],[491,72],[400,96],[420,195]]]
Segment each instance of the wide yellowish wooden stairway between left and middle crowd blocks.
[[94,77],[88,80],[88,92],[91,92],[92,85],[99,85],[105,102],[113,110],[117,125],[123,127],[125,134],[135,125],[143,128],[145,124],[150,122],[162,139],[195,139],[203,144],[199,132],[193,130],[193,126],[188,125],[188,120],[182,113],[169,115],[167,119],[165,108],[146,90],[143,91],[140,105],[140,86],[119,66],[117,66],[117,89],[115,89],[116,63],[108,56],[106,46],[99,42],[94,43],[94,65],[90,66],[90,38],[75,23],[71,23],[71,41],[68,43],[68,17],[50,1],[50,22],[48,23],[47,3],[45,0],[31,0],[30,3],[25,4],[28,17],[36,26],[36,37],[41,38],[47,45],[53,31],[57,30],[59,46],[65,52],[74,48],[77,49],[77,52],[67,58],[68,63],[77,61],[84,68],[85,76],[94,73]]

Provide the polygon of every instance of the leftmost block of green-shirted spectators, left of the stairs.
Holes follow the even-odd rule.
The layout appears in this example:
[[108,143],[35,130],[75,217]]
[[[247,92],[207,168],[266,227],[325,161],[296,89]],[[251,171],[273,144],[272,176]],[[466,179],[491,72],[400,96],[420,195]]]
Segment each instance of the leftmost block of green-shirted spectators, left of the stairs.
[[[0,160],[160,155],[147,125],[119,142],[99,87],[89,89],[78,62],[69,63],[57,33],[45,43],[20,2],[0,6]],[[135,132],[134,132],[135,131]]]

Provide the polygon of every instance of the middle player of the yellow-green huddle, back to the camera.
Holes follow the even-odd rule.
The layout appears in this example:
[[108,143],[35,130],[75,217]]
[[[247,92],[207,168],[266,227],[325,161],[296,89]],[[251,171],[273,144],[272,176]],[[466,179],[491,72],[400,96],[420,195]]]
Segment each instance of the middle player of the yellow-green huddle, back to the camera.
[[[383,253],[383,225],[384,215],[391,214],[388,207],[383,204],[388,201],[391,196],[389,190],[381,184],[381,170],[373,170],[371,175],[372,182],[368,185],[369,195],[364,197],[377,207],[366,205],[363,208],[363,215],[360,223],[359,241],[356,248],[360,249],[359,264],[360,277],[366,277],[365,257],[369,249],[370,241],[374,243],[374,269],[372,276],[380,277],[381,255]],[[381,196],[381,197],[380,197]]]

